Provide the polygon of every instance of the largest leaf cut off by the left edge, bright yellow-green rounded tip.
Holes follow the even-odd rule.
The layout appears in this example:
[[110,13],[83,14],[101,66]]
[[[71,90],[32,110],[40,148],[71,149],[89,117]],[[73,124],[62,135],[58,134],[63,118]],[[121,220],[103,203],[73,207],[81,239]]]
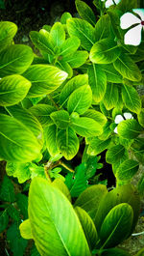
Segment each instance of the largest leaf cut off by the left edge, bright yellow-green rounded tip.
[[0,158],[8,161],[28,162],[36,159],[41,147],[36,136],[16,119],[0,115]]

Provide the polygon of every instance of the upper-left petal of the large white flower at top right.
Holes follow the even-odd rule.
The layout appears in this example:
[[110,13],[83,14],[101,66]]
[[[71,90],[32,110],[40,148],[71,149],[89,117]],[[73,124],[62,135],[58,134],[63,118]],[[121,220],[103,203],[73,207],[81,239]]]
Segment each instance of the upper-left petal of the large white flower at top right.
[[123,14],[120,18],[120,26],[122,29],[131,27],[135,23],[140,23],[141,20],[131,13]]

